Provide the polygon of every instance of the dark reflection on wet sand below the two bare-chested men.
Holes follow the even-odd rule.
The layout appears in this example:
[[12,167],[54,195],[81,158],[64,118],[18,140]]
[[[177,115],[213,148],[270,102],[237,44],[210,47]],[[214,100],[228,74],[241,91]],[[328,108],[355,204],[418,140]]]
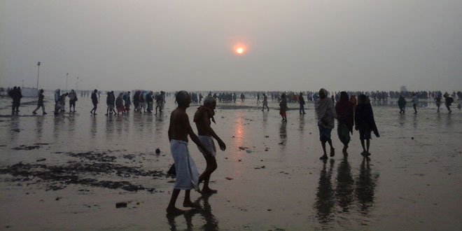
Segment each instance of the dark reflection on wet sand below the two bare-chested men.
[[[204,218],[204,221],[205,221],[204,225],[202,225],[202,227],[199,228],[199,230],[220,230],[220,228],[218,227],[218,220],[216,219],[214,214],[212,214],[211,212],[212,209],[209,204],[210,195],[211,194],[202,195],[202,197],[197,198],[197,200],[194,202],[196,204],[199,204],[200,200],[204,200],[204,206],[202,208],[193,209],[193,210],[187,211],[184,214],[188,230],[195,228],[193,225],[193,217],[196,214],[199,214],[200,216],[202,216],[202,218]],[[167,221],[170,225],[170,230],[176,230],[175,216],[167,214]]]

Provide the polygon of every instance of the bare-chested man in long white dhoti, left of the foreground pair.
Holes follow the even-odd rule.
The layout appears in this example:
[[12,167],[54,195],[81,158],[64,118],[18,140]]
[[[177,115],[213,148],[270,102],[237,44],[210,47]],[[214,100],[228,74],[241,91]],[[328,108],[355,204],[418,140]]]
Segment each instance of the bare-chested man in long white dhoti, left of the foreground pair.
[[189,123],[188,114],[186,114],[186,109],[189,107],[191,102],[189,93],[186,91],[178,92],[176,94],[176,102],[178,102],[178,107],[172,111],[168,132],[170,151],[172,151],[176,170],[175,186],[169,206],[167,207],[167,214],[171,215],[179,215],[185,212],[184,210],[175,207],[176,199],[180,194],[180,190],[186,190],[183,207],[199,207],[199,205],[194,204],[190,198],[190,190],[192,188],[197,190],[199,174],[193,158],[191,158],[188,153],[188,135],[207,155],[211,155],[207,148],[202,145],[196,134],[194,134]]

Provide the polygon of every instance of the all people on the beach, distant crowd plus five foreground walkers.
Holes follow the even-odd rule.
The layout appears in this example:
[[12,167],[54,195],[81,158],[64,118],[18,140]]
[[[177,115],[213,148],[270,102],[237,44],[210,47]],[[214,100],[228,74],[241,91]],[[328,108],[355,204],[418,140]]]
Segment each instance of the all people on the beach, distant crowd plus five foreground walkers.
[[[86,91],[85,91],[86,92]],[[367,94],[365,94],[367,93]],[[99,104],[98,90],[93,90],[91,93],[91,100],[93,109],[90,111],[92,115],[96,115],[97,105]],[[118,92],[108,91],[106,97],[106,116],[119,115],[128,113],[130,106],[134,106],[134,111],[137,113],[162,113],[165,106],[165,99],[169,94],[166,92],[154,93],[153,91],[136,90],[131,97],[131,92]],[[282,123],[287,122],[288,102],[297,102],[300,105],[300,114],[305,114],[304,97],[307,98],[308,102],[314,102],[314,108],[316,112],[316,126],[319,131],[319,140],[323,149],[323,155],[321,160],[327,160],[328,157],[335,156],[335,148],[332,144],[331,132],[335,128],[335,120],[337,120],[337,136],[339,141],[343,144],[342,153],[348,155],[347,150],[351,141],[351,134],[353,129],[358,131],[358,137],[360,144],[363,148],[363,152],[360,153],[364,158],[369,158],[370,154],[370,139],[371,134],[374,133],[376,137],[380,137],[377,125],[374,121],[374,113],[372,111],[371,100],[388,100],[388,97],[395,97],[396,95],[391,92],[333,92],[329,97],[329,92],[323,88],[318,92],[252,92],[248,94],[250,97],[257,99],[257,104],[262,103],[262,111],[269,111],[268,107],[268,96],[269,94],[272,101],[279,101],[279,114],[282,118]],[[22,98],[20,87],[13,87],[8,91],[8,95],[13,99],[12,111],[13,113],[19,111],[20,99]],[[82,94],[81,97],[87,97],[88,94]],[[356,96],[358,97],[356,99]],[[461,92],[454,92],[453,97],[457,96],[459,100],[462,99]],[[174,159],[174,173],[176,174],[176,180],[174,183],[174,190],[172,197],[167,206],[167,214],[183,214],[185,211],[176,208],[176,200],[181,190],[186,190],[186,195],[183,201],[183,207],[199,207],[190,200],[190,190],[195,189],[200,193],[216,193],[217,190],[213,190],[209,187],[211,174],[216,170],[216,146],[214,140],[218,142],[218,146],[222,151],[225,151],[225,142],[218,137],[218,135],[211,128],[211,123],[216,123],[214,119],[216,103],[230,103],[236,102],[236,92],[222,92],[214,93],[209,92],[207,97],[202,97],[202,93],[192,92],[191,94],[186,91],[180,91],[174,93],[175,103],[177,104],[176,109],[172,111],[169,122],[168,137],[170,142],[170,151]],[[440,105],[442,104],[442,98],[444,98],[444,104],[447,107],[449,113],[451,113],[451,103],[454,102],[454,98],[449,93],[442,94],[441,92],[402,92],[398,94],[398,106],[400,113],[405,113],[405,106],[407,104],[405,97],[411,97],[413,104],[414,113],[417,113],[416,105],[419,103],[419,99],[426,99],[425,97],[433,97],[435,104],[437,105],[437,112],[440,112]],[[74,90],[61,94],[60,90],[55,91],[55,114],[62,113],[65,111],[66,99],[69,98],[69,113],[75,113],[76,102],[78,101],[77,94]],[[195,112],[193,122],[197,127],[197,135],[193,132],[190,126],[190,120],[186,109],[190,106],[191,102],[202,102],[204,98],[204,104],[200,106]],[[242,92],[240,94],[241,102],[246,99],[246,94]],[[38,109],[42,109],[43,114],[45,112],[45,106],[43,104],[43,90],[38,92],[38,103],[37,108],[32,112],[36,114]],[[155,104],[155,109],[154,109]],[[459,104],[460,105],[460,104]],[[459,108],[460,109],[460,108]],[[188,151],[188,137],[197,145],[200,152],[203,154],[204,159],[207,162],[207,166],[202,174],[199,174],[193,158],[191,158]],[[326,144],[330,146],[330,153],[328,155],[326,151]],[[200,189],[200,183],[203,183],[202,189]]]

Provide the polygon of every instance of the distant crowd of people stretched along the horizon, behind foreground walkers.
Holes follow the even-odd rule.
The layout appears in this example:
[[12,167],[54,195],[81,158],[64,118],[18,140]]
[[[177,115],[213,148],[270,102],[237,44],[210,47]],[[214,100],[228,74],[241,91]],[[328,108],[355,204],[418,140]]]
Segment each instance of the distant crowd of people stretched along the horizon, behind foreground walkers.
[[[12,104],[12,111],[13,113],[19,112],[20,102],[22,99],[22,93],[20,87],[13,87],[8,88],[8,96],[13,99]],[[169,97],[171,92],[153,92],[153,91],[146,91],[146,90],[136,90],[133,94],[133,97],[130,94],[130,91],[127,92],[118,92],[118,97],[116,97],[113,91],[108,91],[106,96],[106,116],[111,115],[119,115],[123,113],[127,113],[130,111],[130,106],[134,106],[134,111],[139,113],[152,113],[155,111],[157,115],[158,112],[162,112],[165,106],[165,99]],[[330,94],[330,99],[332,102],[339,102],[341,97],[341,92],[328,92]],[[396,91],[371,91],[371,92],[352,92],[346,91],[346,94],[351,95],[351,101],[356,102],[356,96],[360,94],[365,94],[367,98],[377,104],[377,102],[387,102],[388,98],[391,99],[398,99],[396,102],[398,103],[398,107],[400,109],[400,113],[405,113],[406,109],[406,98],[410,98],[412,102],[412,107],[414,109],[414,113],[417,113],[417,107],[419,105],[420,99],[433,99],[437,106],[437,112],[440,112],[441,104],[444,104],[447,111],[451,113],[451,104],[454,102],[454,98],[458,98],[459,101],[462,100],[462,92],[452,92],[449,94],[445,92],[442,94],[440,91],[417,91],[417,92],[396,92]],[[99,99],[101,97],[101,92],[98,90],[94,90],[91,92],[88,90],[80,90],[80,97],[88,97],[91,95],[92,103],[94,107],[91,111],[93,115],[96,115],[97,104],[99,103]],[[190,92],[191,95],[191,102],[195,104],[202,103],[202,99],[204,98],[202,92]],[[239,94],[237,92],[209,92],[208,97],[212,97],[216,100],[216,102],[221,103],[236,103],[237,97]],[[284,96],[284,97],[282,97]],[[76,112],[76,102],[78,101],[77,93],[74,90],[70,92],[61,93],[61,90],[55,90],[55,115],[58,115],[61,112],[66,111],[66,99],[69,98],[69,112]],[[298,103],[300,104],[300,114],[304,114],[304,105],[305,99],[307,102],[314,103],[318,99],[320,99],[320,95],[318,92],[241,92],[239,98],[241,102],[245,102],[246,98],[255,98],[257,99],[257,104],[262,103],[262,111],[268,108],[268,100],[271,97],[272,102],[277,101],[281,104],[287,105],[287,103]],[[45,112],[45,105],[43,104],[43,90],[39,90],[38,92],[38,103],[37,103],[37,110],[42,108],[43,115],[46,114]],[[444,102],[442,101],[444,99]],[[424,104],[426,104],[425,101]],[[381,103],[378,103],[381,104]],[[383,104],[383,103],[382,103]],[[386,103],[388,104],[388,103]],[[458,108],[461,108],[461,104],[458,104]],[[34,115],[36,111],[34,110]],[[287,109],[285,109],[287,110]],[[286,116],[283,116],[283,112],[281,112],[281,116],[283,120],[287,120]]]

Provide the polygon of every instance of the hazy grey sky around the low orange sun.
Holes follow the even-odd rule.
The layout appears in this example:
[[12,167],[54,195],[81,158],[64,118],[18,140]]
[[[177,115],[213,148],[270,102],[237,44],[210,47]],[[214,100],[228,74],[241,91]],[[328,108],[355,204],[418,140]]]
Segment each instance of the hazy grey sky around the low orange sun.
[[0,0],[0,85],[37,62],[45,89],[462,90],[462,1]]

